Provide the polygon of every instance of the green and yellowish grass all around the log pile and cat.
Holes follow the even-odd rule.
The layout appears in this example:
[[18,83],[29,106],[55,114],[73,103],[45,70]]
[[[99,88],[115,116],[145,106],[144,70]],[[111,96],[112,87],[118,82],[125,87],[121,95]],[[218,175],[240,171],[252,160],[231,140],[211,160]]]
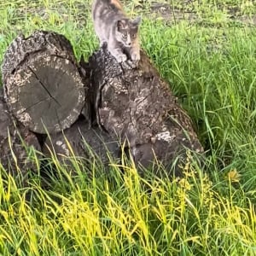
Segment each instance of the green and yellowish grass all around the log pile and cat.
[[[74,161],[78,175],[71,177],[53,157],[57,175],[48,189],[35,176],[20,188],[2,170],[1,255],[256,254],[256,31],[240,20],[253,19],[255,5],[161,1],[173,14],[197,15],[167,22],[148,18],[148,2],[126,7],[143,15],[143,49],[193,119],[205,166],[188,156],[184,178],[169,181],[143,179],[128,164],[124,175],[115,165],[102,175],[92,163],[87,177]],[[0,61],[19,32],[35,29],[64,34],[78,58],[88,59],[98,47],[89,9],[86,0],[2,0]]]

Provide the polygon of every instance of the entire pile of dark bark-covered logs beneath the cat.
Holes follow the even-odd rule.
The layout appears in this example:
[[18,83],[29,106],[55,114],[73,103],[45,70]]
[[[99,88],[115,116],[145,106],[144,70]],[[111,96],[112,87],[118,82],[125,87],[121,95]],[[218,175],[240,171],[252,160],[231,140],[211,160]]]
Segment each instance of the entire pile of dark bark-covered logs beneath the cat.
[[108,166],[125,148],[142,175],[144,168],[181,175],[187,151],[203,152],[188,114],[143,51],[137,64],[119,64],[103,45],[78,64],[66,38],[39,31],[15,38],[2,73],[0,161],[7,169],[34,168],[20,137],[40,151],[39,138],[46,156],[67,165],[77,156]]

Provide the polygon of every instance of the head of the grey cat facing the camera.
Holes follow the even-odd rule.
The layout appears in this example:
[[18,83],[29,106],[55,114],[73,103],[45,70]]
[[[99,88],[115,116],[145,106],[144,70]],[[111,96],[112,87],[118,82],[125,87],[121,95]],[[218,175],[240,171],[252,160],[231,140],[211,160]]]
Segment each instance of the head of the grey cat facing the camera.
[[137,17],[135,20],[122,19],[116,22],[116,39],[125,45],[125,47],[131,47],[136,41],[138,35],[138,26],[141,22],[141,17]]

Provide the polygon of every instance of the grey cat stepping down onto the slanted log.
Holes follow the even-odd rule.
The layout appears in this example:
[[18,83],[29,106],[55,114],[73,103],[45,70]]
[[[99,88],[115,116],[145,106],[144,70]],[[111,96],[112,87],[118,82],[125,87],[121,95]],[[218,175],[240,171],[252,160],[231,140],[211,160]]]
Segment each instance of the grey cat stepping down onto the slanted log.
[[126,61],[127,55],[131,61],[140,60],[140,17],[130,20],[119,0],[95,0],[92,5],[92,17],[101,45],[107,42],[108,51],[118,62]]

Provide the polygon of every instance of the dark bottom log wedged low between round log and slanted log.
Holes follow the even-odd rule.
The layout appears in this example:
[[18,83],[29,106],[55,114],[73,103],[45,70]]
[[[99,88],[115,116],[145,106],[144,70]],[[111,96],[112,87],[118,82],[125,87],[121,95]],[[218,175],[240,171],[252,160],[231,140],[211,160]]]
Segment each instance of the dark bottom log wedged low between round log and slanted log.
[[99,127],[90,127],[86,119],[79,119],[63,132],[50,135],[44,143],[43,153],[54,154],[58,160],[71,165],[70,159],[76,156],[89,164],[96,160],[108,166],[109,160],[120,156],[119,143]]

